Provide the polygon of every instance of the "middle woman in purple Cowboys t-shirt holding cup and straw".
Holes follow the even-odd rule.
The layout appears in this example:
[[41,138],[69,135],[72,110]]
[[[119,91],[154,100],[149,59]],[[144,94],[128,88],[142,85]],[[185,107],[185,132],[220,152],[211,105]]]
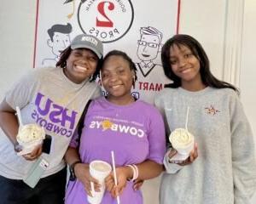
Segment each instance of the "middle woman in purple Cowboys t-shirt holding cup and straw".
[[137,80],[137,68],[124,52],[113,50],[100,71],[106,97],[92,100],[84,117],[82,133],[74,134],[66,153],[73,178],[67,184],[65,203],[89,203],[90,182],[96,191],[99,183],[90,176],[91,161],[112,164],[115,156],[117,185],[113,173],[105,179],[106,191],[101,203],[142,204],[141,190],[133,186],[135,179],[146,180],[163,171],[166,150],[165,127],[160,112],[131,95]]

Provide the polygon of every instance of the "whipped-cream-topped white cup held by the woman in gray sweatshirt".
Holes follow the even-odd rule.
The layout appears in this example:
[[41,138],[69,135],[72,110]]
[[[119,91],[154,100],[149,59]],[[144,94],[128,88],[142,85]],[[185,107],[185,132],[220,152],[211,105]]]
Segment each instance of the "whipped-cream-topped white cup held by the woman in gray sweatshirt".
[[[176,159],[183,161],[189,157],[189,153],[194,149],[195,138],[192,133],[189,133],[187,129],[176,128],[170,134],[169,140],[172,147],[177,150],[178,155]],[[175,158],[172,158],[174,160]]]

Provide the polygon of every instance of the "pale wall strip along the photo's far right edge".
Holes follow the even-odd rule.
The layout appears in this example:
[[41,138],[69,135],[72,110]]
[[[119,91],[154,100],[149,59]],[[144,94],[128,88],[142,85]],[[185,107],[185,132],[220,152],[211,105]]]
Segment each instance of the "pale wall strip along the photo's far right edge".
[[[256,133],[256,1],[246,0],[241,49],[241,102]],[[255,138],[255,137],[254,137]],[[256,194],[252,203],[256,203]]]

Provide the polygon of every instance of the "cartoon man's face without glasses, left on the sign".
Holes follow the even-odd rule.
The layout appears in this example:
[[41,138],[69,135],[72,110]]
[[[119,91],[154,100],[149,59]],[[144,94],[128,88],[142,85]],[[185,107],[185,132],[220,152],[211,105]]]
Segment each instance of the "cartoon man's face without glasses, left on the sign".
[[52,40],[49,39],[47,44],[52,49],[52,53],[55,54],[55,56],[59,56],[61,52],[70,44],[69,34],[55,32]]

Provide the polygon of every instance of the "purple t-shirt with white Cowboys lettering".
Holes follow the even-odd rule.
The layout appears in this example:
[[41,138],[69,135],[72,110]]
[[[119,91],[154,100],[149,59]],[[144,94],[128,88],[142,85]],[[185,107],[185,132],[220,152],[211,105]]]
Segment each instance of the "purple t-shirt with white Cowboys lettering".
[[[70,146],[78,146],[78,135]],[[84,121],[80,140],[81,161],[94,160],[111,162],[114,151],[116,167],[137,164],[145,160],[162,164],[166,152],[165,127],[160,112],[142,100],[131,105],[114,105],[104,97],[91,102]],[[67,204],[88,203],[84,186],[79,180],[69,181],[67,185]],[[106,190],[102,203],[115,204],[116,199]],[[132,189],[127,181],[120,195],[122,204],[142,204],[140,190]]]

